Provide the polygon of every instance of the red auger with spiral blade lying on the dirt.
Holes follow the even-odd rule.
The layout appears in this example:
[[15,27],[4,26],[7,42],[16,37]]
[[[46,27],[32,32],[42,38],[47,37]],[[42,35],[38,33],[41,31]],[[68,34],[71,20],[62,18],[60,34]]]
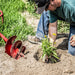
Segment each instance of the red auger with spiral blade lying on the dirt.
[[13,43],[13,41],[16,39],[16,36],[12,36],[7,39],[3,34],[0,33],[0,37],[6,42],[5,53],[15,59],[24,57],[24,51],[26,47],[22,46],[22,42],[20,40]]

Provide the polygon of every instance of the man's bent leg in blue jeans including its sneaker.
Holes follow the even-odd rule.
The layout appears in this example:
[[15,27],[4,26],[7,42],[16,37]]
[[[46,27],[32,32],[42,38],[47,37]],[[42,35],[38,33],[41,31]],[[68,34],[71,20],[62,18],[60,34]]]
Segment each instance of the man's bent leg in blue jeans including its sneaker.
[[41,15],[37,26],[36,36],[28,36],[28,41],[36,44],[44,38],[44,35],[48,35],[48,26],[49,26],[49,11],[44,11]]

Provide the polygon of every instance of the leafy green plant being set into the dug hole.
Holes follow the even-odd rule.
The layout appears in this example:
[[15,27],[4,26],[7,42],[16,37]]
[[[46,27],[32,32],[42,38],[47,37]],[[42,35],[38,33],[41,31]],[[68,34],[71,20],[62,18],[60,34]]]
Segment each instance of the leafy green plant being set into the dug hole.
[[51,62],[57,62],[57,60],[59,60],[56,48],[52,46],[52,44],[48,41],[48,38],[42,40],[42,50],[42,57],[45,55],[48,56],[48,59],[50,59]]

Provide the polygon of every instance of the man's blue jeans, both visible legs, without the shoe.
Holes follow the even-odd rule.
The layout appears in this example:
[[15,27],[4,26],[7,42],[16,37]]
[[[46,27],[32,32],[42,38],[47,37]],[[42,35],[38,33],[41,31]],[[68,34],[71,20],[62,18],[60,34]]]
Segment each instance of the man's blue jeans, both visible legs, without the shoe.
[[[44,38],[44,35],[48,35],[48,26],[49,26],[49,11],[44,11],[38,23],[36,37],[42,39]],[[70,45],[70,37],[72,35],[75,35],[75,23],[70,24],[70,34],[68,41],[68,52],[71,55],[75,55],[75,47]]]

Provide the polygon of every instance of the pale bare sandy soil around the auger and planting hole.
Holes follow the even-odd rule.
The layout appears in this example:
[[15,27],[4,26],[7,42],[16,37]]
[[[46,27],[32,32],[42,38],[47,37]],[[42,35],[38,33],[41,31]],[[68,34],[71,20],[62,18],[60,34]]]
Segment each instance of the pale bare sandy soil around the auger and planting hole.
[[2,46],[0,47],[0,75],[75,75],[75,57],[68,53],[67,43],[68,35],[59,34],[55,46],[60,54],[60,61],[53,64],[43,63],[34,58],[40,44],[23,41],[23,45],[26,46],[25,58],[18,60],[7,55],[5,46]]

